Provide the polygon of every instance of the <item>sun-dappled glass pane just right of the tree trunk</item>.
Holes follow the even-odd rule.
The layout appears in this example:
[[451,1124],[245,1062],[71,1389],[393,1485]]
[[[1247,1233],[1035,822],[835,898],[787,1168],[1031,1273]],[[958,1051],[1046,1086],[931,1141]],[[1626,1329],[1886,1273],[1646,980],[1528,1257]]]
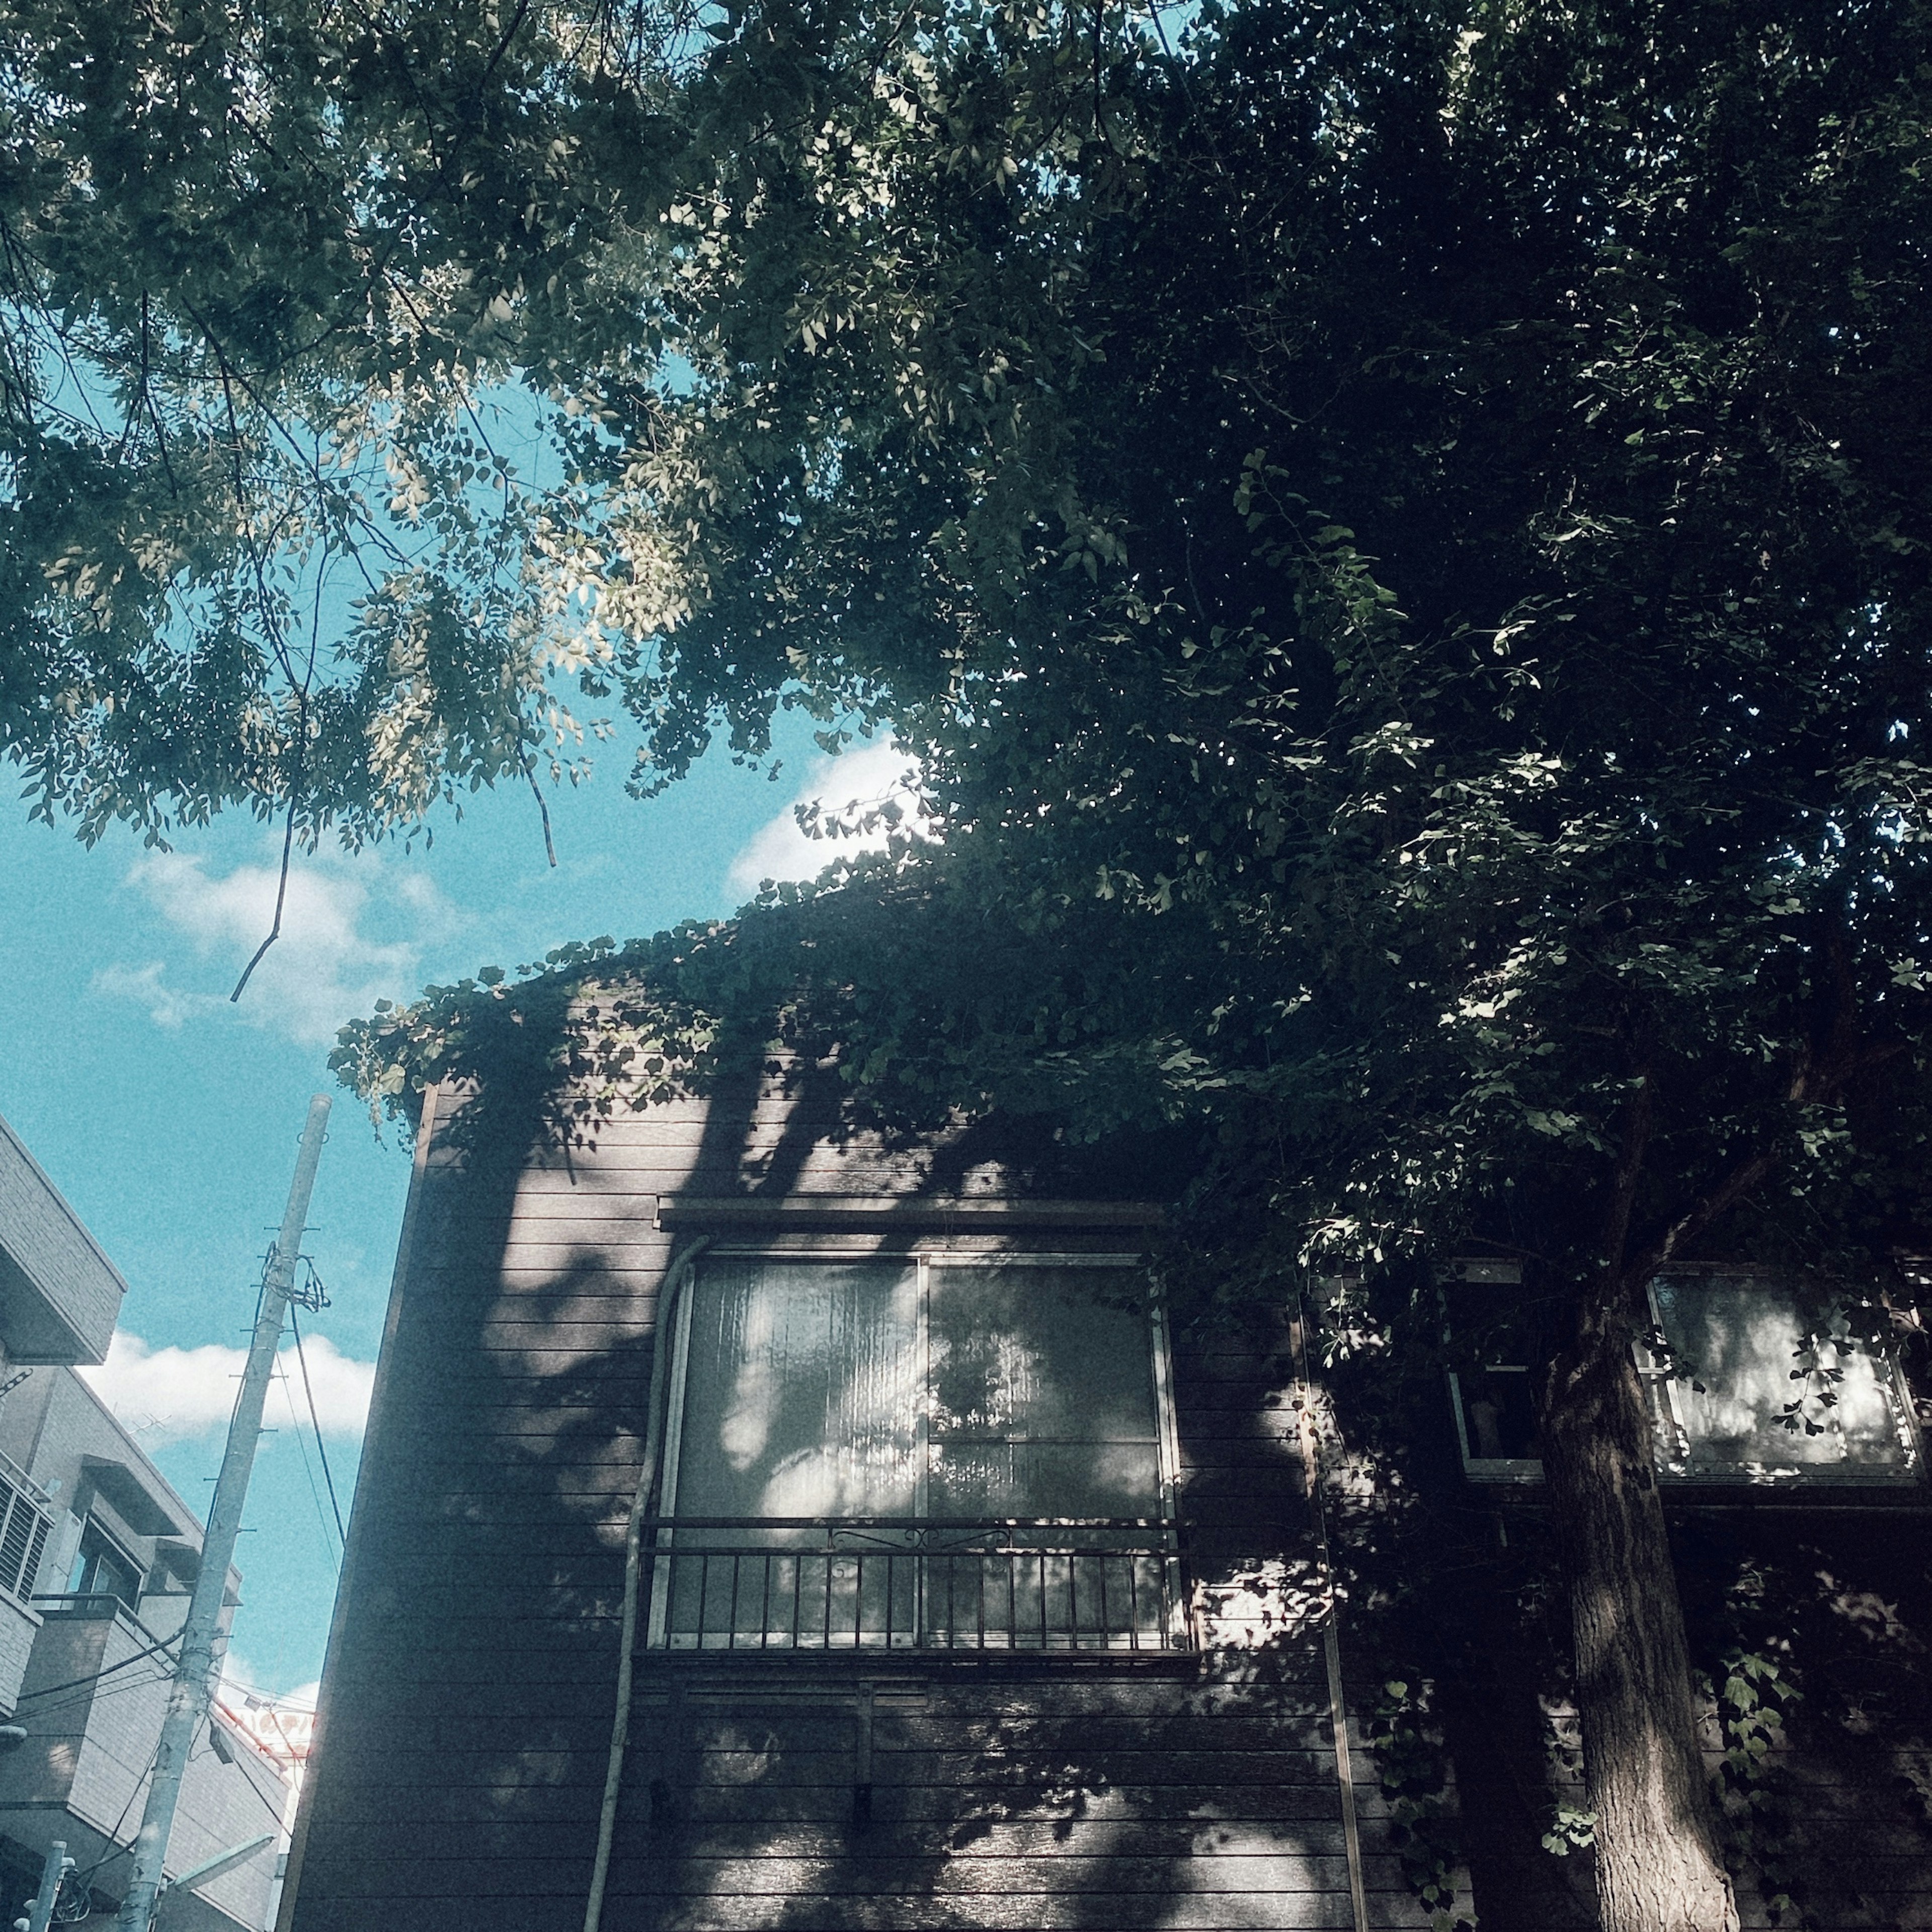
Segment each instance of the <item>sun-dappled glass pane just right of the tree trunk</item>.
[[[1689,1435],[1675,1464],[1812,1474],[1905,1466],[1886,1364],[1851,1339],[1824,1296],[1764,1275],[1675,1275],[1656,1283],[1656,1298],[1677,1358],[1669,1401]],[[1835,1401],[1820,1401],[1826,1393]],[[1801,1399],[1789,1428],[1787,1405]]]

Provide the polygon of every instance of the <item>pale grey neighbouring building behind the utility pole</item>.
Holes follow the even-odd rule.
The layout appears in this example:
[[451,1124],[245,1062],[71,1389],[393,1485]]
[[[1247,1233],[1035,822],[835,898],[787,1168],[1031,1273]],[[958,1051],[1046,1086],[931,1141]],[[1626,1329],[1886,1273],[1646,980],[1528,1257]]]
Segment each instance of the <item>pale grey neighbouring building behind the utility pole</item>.
[[[112,1913],[141,1822],[201,1565],[201,1522],[73,1374],[100,1362],[124,1283],[0,1122],[0,1903],[31,1897],[46,1847],[77,1872],[64,1911]],[[240,1602],[230,1571],[228,1602]],[[280,1830],[290,1779],[218,1706],[195,1745],[168,1849],[182,1874]],[[168,1932],[259,1932],[276,1851],[168,1895]]]

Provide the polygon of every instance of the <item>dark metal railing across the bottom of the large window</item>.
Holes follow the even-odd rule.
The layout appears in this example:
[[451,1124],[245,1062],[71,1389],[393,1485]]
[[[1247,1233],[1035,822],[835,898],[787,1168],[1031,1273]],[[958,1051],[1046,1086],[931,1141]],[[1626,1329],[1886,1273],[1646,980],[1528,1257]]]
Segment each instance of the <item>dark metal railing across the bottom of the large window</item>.
[[1148,1519],[659,1517],[659,1650],[1186,1650],[1177,1526]]

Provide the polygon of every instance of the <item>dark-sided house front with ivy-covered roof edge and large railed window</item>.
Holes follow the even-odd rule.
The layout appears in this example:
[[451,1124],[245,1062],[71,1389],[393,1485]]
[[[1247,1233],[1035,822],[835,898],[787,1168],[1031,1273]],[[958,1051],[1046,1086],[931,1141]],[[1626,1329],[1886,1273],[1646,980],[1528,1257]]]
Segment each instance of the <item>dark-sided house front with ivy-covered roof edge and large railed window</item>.
[[[570,1144],[547,1121],[425,1107],[282,1932],[535,1932],[593,1895],[601,1932],[1470,1911],[1466,1870],[1422,1897],[1405,1774],[1366,1748],[1387,1687],[1333,1615],[1321,1507],[1354,1476],[1316,1439],[1293,1310],[1167,1321],[1171,1163],[997,1122],[895,1140],[777,1063]],[[1685,1293],[1671,1320],[1725,1306]],[[1777,1347],[1747,1343],[1683,1430],[1694,1507],[1806,1503],[1806,1470],[1725,1449],[1719,1399]],[[1909,1393],[1845,1362],[1857,1426],[1803,1453],[1833,1480],[1862,1457],[1889,1534],[1918,1534]],[[1517,1374],[1437,1397],[1455,1507],[1505,1542],[1536,1507]],[[1853,1476],[1832,1507],[1862,1507]],[[1507,1644],[1492,1663],[1507,1681]],[[1534,1700],[1449,1725],[1474,1905],[1586,1924],[1586,1855],[1513,1866],[1480,1830],[1517,1806],[1534,1849],[1575,1797],[1544,1748],[1561,1710],[1524,1747],[1486,1729],[1505,1702]],[[1889,1903],[1812,1922],[1932,1924],[1909,1808],[1814,1791],[1876,1820]]]

